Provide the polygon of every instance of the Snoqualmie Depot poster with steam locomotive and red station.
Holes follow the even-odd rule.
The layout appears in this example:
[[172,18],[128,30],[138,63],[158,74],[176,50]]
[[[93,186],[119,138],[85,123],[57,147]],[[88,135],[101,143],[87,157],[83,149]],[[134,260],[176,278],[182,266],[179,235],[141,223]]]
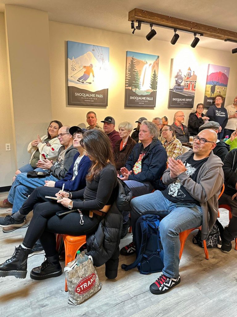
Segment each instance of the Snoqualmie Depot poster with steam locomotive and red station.
[[196,91],[197,65],[187,58],[171,59],[168,108],[192,108]]

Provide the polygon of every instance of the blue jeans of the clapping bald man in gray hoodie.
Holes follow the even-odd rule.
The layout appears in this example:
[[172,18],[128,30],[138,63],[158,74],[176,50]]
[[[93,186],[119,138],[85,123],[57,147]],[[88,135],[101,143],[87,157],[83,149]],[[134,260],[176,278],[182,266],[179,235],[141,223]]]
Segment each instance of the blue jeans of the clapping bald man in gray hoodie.
[[168,277],[177,277],[179,275],[179,232],[199,227],[202,224],[201,207],[176,207],[175,203],[165,198],[161,191],[154,191],[151,194],[132,199],[131,209],[133,236],[135,223],[140,216],[144,214],[166,216],[161,220],[159,226],[164,250],[162,272]]

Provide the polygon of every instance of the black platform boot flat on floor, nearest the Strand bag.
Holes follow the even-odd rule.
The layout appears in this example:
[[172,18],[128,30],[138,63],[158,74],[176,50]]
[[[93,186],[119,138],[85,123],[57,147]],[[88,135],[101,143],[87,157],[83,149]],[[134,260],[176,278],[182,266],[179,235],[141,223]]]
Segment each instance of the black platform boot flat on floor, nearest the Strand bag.
[[62,268],[58,260],[58,254],[45,256],[45,261],[30,272],[32,280],[45,280],[62,274]]

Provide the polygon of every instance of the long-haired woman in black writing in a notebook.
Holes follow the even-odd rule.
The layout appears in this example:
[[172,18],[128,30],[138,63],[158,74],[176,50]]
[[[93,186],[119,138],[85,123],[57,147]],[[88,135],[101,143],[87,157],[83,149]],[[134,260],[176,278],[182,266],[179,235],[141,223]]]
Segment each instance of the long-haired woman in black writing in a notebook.
[[[56,196],[63,198],[57,203],[48,199],[47,202],[35,206],[23,243],[15,248],[10,259],[0,265],[0,276],[13,275],[17,278],[25,278],[28,254],[39,238],[45,250],[46,261],[41,266],[33,268],[30,277],[34,280],[43,280],[61,275],[62,268],[58,261],[55,233],[75,236],[94,233],[101,216],[93,213],[93,217],[89,217],[89,210],[101,210],[113,203],[117,173],[113,165],[110,140],[99,130],[89,130],[84,133],[84,138],[80,142],[86,155],[92,161],[86,177],[85,189],[72,193],[59,191]],[[39,197],[45,201],[44,194],[48,195],[50,190],[51,188],[47,187],[36,188],[27,199],[28,207],[32,208],[34,204],[39,203]],[[52,188],[52,190],[55,189]],[[78,209],[79,212],[74,211],[61,217],[56,215],[57,211],[69,211],[70,207]]]

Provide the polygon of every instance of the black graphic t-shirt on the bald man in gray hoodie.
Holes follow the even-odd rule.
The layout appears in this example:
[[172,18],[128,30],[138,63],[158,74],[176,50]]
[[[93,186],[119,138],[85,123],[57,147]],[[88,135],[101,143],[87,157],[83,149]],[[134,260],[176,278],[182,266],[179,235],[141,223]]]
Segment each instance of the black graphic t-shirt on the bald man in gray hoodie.
[[[196,182],[197,174],[200,167],[207,161],[208,157],[201,160],[194,160],[193,159],[194,153],[189,157],[185,162],[184,165],[187,169],[185,173],[189,175],[189,177]],[[173,203],[194,203],[200,206],[200,203],[194,199],[188,192],[188,189],[185,189],[184,186],[181,184],[179,178],[177,178],[173,183],[169,184],[168,187],[161,191],[164,197],[168,200],[172,201]]]

